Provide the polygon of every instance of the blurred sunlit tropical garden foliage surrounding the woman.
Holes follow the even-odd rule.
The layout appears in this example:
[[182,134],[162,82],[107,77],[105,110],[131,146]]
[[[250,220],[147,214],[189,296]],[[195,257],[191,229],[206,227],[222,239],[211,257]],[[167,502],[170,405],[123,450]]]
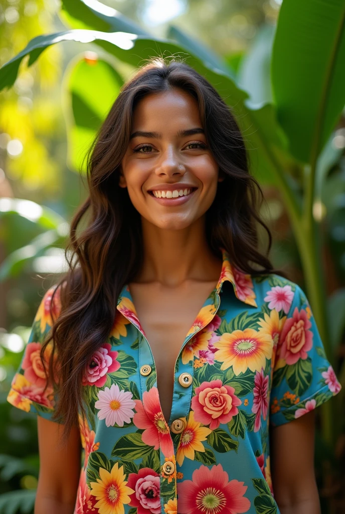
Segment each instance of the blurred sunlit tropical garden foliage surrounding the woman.
[[[83,156],[123,81],[157,54],[202,72],[243,130],[271,258],[307,292],[342,383],[317,411],[315,469],[322,513],[345,512],[344,18],[343,0],[0,0],[0,513],[33,512],[36,419],[6,396],[65,269]],[[19,70],[6,64],[28,44]]]

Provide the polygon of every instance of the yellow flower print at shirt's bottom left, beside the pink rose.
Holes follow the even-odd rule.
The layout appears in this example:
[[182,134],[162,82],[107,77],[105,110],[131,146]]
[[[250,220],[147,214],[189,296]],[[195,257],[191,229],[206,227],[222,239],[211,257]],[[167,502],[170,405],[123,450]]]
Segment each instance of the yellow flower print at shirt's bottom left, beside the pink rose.
[[100,479],[91,482],[91,494],[98,500],[94,504],[99,514],[124,514],[124,505],[130,502],[129,494],[133,489],[127,487],[126,475],[123,474],[123,466],[116,462],[111,471],[100,468]]

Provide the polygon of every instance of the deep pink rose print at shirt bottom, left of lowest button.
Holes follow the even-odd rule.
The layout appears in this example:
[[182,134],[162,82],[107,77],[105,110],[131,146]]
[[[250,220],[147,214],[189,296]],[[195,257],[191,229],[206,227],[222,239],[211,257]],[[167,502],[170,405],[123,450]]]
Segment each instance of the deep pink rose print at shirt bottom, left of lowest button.
[[129,473],[127,487],[135,491],[130,495],[130,507],[137,507],[138,514],[160,514],[160,478],[153,469],[142,468]]

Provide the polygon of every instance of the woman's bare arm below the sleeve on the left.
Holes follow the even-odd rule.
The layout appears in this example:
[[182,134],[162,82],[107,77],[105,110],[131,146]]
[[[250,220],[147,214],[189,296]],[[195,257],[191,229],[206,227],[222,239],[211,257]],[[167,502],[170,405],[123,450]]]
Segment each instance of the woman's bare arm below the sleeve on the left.
[[38,416],[37,429],[40,474],[34,513],[72,514],[81,470],[79,430],[73,429],[63,445],[59,423]]

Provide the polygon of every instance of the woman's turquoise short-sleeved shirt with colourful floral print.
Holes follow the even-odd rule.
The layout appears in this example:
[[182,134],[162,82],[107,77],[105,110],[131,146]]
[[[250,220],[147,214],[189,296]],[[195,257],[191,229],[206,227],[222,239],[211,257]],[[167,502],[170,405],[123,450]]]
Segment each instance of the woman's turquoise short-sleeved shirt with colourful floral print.
[[[279,512],[269,425],[303,416],[340,384],[301,288],[277,274],[244,274],[221,251],[219,281],[176,360],[169,420],[149,341],[123,287],[109,338],[84,374],[75,514]],[[52,291],[37,311],[8,395],[13,406],[47,419],[58,394],[44,391],[40,361]],[[52,315],[58,314],[57,297]]]

